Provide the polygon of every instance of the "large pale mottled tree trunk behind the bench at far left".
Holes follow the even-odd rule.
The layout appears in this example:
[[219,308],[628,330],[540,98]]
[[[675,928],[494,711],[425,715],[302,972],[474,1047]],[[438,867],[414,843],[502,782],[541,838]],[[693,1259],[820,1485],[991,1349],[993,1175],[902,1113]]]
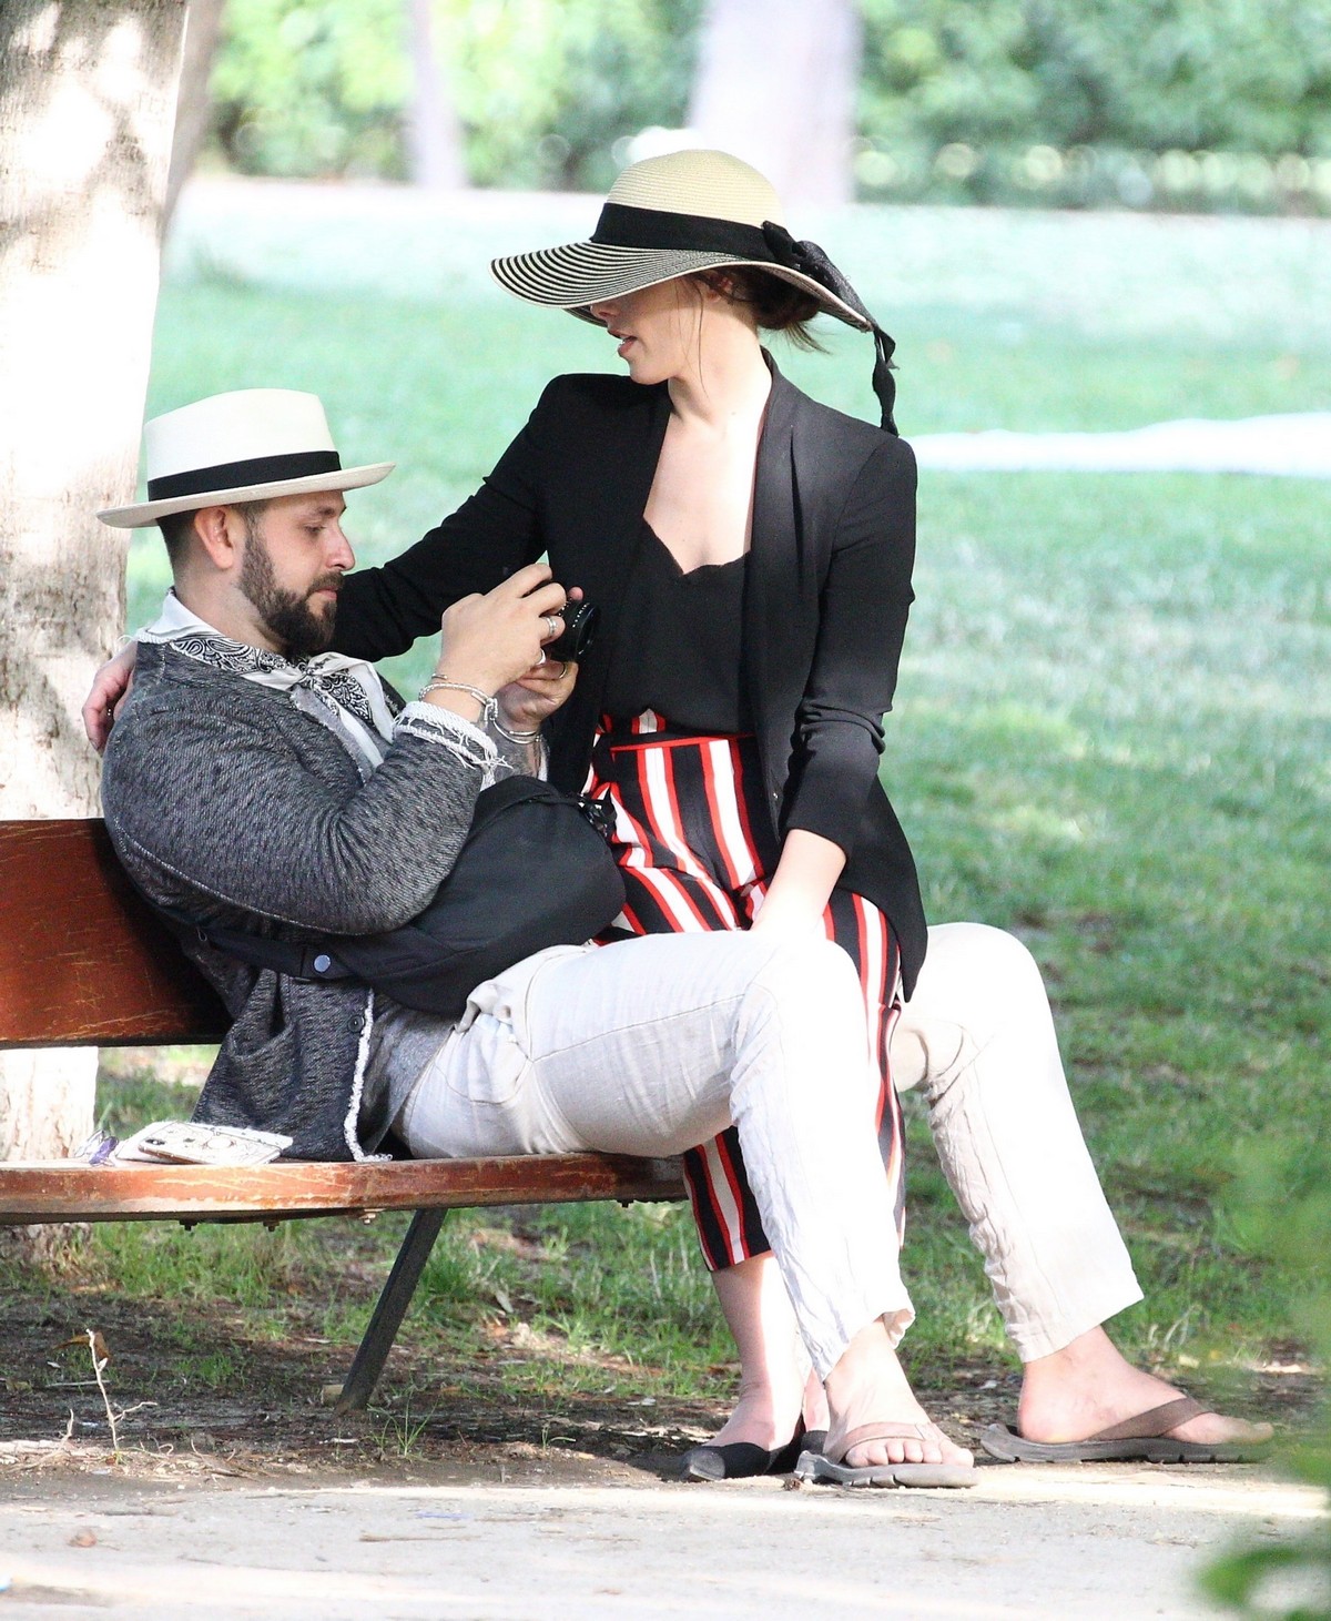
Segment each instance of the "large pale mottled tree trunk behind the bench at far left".
[[[183,0],[0,8],[0,817],[94,815],[79,705],[125,613]],[[96,1052],[0,1054],[0,1153],[68,1153]]]

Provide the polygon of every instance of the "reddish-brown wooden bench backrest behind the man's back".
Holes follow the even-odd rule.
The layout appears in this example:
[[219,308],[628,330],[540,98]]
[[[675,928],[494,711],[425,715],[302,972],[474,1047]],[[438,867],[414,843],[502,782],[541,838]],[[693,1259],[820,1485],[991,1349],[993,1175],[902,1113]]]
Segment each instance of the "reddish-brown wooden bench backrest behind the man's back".
[[220,1041],[227,1024],[101,820],[0,822],[0,1047]]

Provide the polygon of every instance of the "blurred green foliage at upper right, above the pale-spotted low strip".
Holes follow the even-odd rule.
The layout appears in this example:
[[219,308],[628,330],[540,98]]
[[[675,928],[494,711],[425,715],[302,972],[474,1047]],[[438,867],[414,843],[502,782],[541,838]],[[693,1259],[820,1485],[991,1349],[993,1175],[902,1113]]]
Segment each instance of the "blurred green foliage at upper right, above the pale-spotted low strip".
[[1328,0],[864,0],[864,133],[1331,156]]

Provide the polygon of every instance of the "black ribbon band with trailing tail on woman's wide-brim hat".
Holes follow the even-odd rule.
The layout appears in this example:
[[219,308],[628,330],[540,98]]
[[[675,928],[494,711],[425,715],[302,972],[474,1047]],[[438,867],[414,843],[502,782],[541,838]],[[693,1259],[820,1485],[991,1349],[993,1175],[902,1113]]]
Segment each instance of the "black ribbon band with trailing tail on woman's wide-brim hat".
[[874,334],[874,394],[882,410],[882,425],[897,433],[892,407],[897,399],[897,383],[892,376],[893,340],[884,332],[851,287],[846,277],[828,259],[815,242],[796,242],[785,225],[764,220],[762,225],[744,225],[731,219],[712,219],[705,214],[674,214],[668,209],[631,207],[626,203],[606,203],[592,242],[601,248],[676,248],[686,253],[733,253],[739,259],[757,264],[777,264],[785,271],[807,276],[811,282],[827,289],[864,321]]

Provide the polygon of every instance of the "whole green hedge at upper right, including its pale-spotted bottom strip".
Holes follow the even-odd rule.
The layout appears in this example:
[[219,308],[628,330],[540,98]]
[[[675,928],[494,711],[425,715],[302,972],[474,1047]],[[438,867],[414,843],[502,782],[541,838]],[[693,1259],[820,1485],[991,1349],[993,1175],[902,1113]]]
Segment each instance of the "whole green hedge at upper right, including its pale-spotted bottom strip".
[[1331,209],[1331,0],[864,0],[869,196]]

